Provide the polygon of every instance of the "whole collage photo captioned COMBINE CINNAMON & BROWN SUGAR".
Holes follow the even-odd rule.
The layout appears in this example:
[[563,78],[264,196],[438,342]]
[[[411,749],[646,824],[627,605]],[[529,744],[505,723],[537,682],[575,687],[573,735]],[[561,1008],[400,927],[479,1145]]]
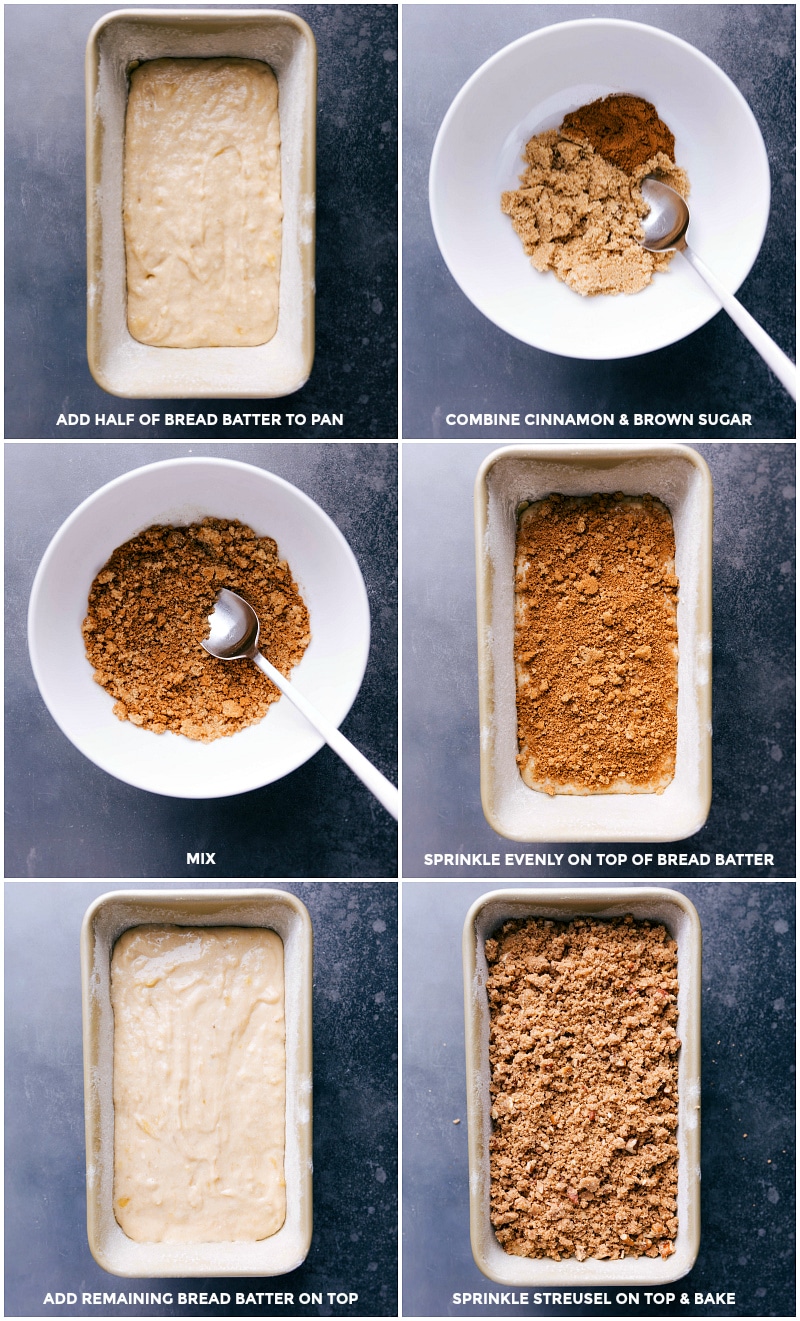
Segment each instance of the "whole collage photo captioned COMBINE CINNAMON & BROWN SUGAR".
[[795,439],[795,18],[403,5],[405,439]]

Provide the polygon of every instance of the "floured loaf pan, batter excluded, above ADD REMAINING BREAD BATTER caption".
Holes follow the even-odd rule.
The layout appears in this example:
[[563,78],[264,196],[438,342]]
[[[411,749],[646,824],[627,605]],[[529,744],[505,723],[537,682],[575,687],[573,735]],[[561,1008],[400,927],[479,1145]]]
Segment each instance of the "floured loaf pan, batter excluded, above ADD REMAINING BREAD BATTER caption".
[[[111,952],[128,927],[263,926],[284,942],[286,1009],[286,1219],[256,1243],[135,1243],[114,1215],[114,1012]],[[87,909],[81,931],[88,1246],[125,1276],[284,1275],[312,1242],[312,922],[286,890],[116,890]]]

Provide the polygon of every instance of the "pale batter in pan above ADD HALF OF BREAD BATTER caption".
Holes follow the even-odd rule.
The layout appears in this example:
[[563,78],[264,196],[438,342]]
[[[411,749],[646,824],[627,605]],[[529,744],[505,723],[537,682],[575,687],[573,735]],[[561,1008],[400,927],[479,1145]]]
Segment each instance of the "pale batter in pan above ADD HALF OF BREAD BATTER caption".
[[277,81],[260,59],[150,59],[131,74],[123,213],[141,343],[267,343],[277,329]]

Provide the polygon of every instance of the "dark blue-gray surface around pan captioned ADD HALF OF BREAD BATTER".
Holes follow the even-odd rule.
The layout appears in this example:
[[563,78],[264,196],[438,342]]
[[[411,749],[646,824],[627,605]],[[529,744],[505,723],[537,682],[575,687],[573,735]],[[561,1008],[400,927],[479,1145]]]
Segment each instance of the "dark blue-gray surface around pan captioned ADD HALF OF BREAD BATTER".
[[[5,436],[261,436],[253,425],[94,425],[95,412],[165,412],[106,394],[86,361],[83,52],[92,25],[116,8],[5,8]],[[277,439],[396,439],[397,9],[273,8],[300,15],[317,40],[317,353],[297,394],[242,400],[239,410],[306,415],[305,427],[285,427]],[[238,408],[230,399],[170,400],[169,412],[187,411],[222,421]],[[57,429],[62,412],[87,412],[92,424]],[[314,412],[343,412],[345,424],[312,425]]]

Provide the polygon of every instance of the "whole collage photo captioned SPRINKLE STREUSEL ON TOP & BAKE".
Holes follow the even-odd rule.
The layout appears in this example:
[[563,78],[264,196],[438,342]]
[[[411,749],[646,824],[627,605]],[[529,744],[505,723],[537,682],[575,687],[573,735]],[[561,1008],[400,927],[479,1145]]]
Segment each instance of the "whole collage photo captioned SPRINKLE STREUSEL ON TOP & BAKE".
[[792,1316],[793,931],[785,882],[405,884],[404,1316]]

